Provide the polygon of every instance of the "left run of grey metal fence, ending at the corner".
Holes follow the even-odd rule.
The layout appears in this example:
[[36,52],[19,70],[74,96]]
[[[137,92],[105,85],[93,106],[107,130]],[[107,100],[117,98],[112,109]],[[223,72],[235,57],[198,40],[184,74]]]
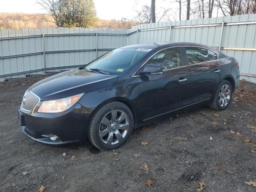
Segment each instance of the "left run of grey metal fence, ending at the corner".
[[[81,32],[81,28],[71,31],[44,28],[44,31],[52,34],[38,35],[32,31],[30,36],[0,38],[0,80],[83,66],[110,50],[125,46],[128,36],[127,30],[119,29],[92,28]],[[15,34],[22,35],[2,32],[2,36]]]

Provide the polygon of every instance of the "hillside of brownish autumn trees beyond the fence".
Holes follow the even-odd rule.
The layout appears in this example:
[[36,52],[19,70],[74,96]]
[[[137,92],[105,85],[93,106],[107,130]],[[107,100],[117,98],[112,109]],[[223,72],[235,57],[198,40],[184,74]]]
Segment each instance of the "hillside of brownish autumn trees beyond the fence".
[[[46,14],[0,13],[0,29],[57,27],[53,18]],[[99,19],[96,27],[131,28],[134,23],[120,20]]]

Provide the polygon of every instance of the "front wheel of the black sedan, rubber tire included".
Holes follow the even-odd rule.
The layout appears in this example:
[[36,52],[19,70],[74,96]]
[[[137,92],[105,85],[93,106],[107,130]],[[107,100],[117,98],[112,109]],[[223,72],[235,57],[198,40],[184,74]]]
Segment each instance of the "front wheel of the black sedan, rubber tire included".
[[113,150],[124,144],[134,126],[131,110],[123,103],[111,102],[92,116],[90,142],[101,150]]

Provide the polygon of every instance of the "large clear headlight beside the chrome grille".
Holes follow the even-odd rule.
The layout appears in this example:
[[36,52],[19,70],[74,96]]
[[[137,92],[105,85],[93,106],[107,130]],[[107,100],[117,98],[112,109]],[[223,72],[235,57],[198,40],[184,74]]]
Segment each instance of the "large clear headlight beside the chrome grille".
[[37,112],[40,113],[58,113],[68,110],[74,105],[83,94],[79,94],[72,97],[67,97],[57,100],[44,101]]

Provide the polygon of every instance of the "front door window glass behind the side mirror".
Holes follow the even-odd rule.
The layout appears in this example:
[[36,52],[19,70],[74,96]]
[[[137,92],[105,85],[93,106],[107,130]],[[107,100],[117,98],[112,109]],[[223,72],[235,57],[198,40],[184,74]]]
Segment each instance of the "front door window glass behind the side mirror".
[[163,67],[163,70],[182,66],[180,48],[175,47],[162,50],[159,53],[155,54],[152,58],[150,58],[146,65],[147,64],[160,65]]

